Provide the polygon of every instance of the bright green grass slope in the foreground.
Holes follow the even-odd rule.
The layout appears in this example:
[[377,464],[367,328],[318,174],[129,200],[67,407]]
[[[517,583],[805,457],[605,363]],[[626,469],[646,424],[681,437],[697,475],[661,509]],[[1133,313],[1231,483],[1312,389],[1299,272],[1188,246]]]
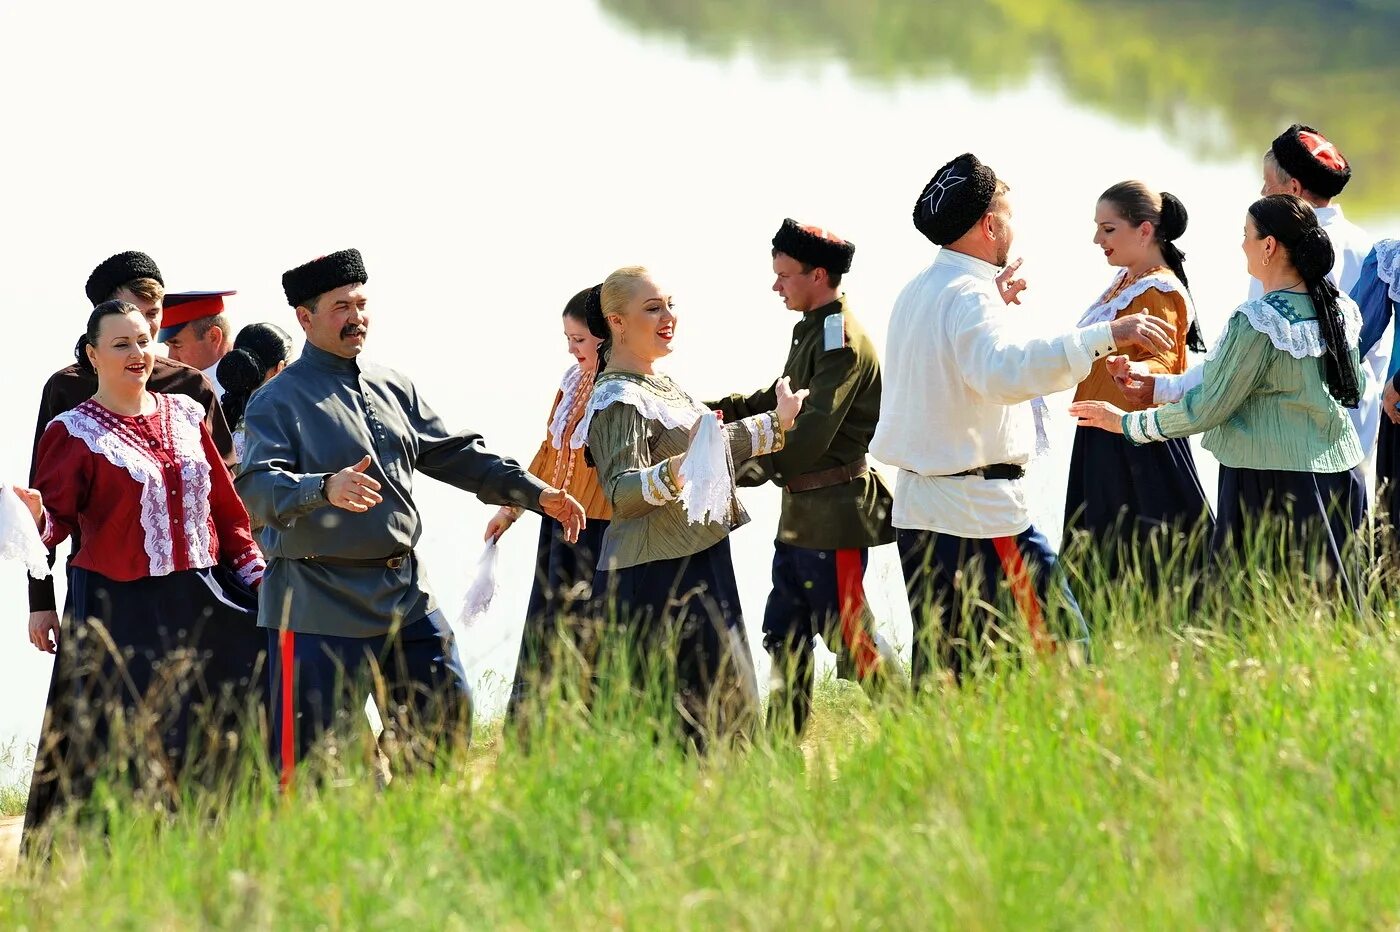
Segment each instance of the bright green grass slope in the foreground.
[[1387,603],[1261,574],[1198,610],[1089,589],[1092,668],[881,707],[827,683],[801,751],[697,760],[570,719],[385,791],[118,807],[0,882],[0,928],[1400,924]]

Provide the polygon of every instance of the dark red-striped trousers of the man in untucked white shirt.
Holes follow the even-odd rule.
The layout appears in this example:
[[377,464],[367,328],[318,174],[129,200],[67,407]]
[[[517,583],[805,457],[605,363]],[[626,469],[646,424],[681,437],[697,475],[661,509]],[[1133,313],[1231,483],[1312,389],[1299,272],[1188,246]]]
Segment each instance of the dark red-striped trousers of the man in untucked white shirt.
[[[956,537],[899,530],[899,556],[914,620],[911,676],[921,686],[937,666],[970,675],[997,645],[1029,640],[1088,649],[1084,614],[1050,544],[1035,528],[1015,537]],[[1007,619],[1019,619],[1022,633]]]

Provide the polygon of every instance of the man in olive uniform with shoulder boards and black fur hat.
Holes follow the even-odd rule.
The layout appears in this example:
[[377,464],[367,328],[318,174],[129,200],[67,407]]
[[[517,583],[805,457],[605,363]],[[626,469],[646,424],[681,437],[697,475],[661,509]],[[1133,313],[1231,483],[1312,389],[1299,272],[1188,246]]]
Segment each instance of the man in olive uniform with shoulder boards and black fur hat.
[[[769,726],[791,725],[798,735],[812,709],[816,637],[867,689],[893,663],[875,638],[864,591],[868,550],[892,543],[895,529],[889,490],[865,465],[879,416],[879,358],[839,292],[854,255],[855,246],[836,234],[794,220],[773,238],[773,290],[802,315],[783,375],[792,390],[811,395],[784,448],[739,474],[745,486],[783,487],[763,647],[773,661]],[[711,407],[734,420],[774,404],[766,389]]]

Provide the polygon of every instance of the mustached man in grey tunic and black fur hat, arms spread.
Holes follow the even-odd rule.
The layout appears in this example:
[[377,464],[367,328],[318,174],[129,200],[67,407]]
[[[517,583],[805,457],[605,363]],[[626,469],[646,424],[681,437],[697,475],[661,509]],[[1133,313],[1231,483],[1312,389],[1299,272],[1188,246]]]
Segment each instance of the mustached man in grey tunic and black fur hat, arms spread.
[[244,421],[237,487],[263,523],[259,624],[284,786],[321,736],[356,716],[371,679],[381,742],[409,763],[470,740],[466,672],[413,550],[414,472],[543,512],[571,540],[585,523],[567,493],[487,452],[479,434],[449,432],[407,376],[360,360],[368,278],[356,249],[283,276],[307,346],[252,396]]

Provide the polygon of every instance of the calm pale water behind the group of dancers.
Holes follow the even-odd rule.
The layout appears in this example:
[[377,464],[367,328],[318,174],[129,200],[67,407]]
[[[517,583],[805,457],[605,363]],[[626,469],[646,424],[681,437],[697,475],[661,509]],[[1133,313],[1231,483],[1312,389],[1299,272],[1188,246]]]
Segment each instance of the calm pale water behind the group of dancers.
[[[1396,105],[1378,102],[1400,78],[1366,53],[1376,34],[1396,48],[1393,20],[1330,17],[1322,35],[1357,49],[1347,70],[1280,98],[1257,66],[1236,64],[1252,3],[1183,4],[1190,15],[1168,25],[1197,46],[1161,41],[1145,59],[1096,43],[1109,35],[1096,3],[972,22],[913,0],[833,1],[806,18],[806,4],[784,15],[743,0],[479,6],[251,3],[211,18],[178,3],[6,4],[0,78],[22,136],[6,147],[0,202],[20,347],[0,477],[22,479],[38,389],[85,319],[83,283],[122,249],[155,256],[172,290],[238,288],[235,323],[294,330],[280,273],[358,246],[371,354],[410,372],[449,424],[528,459],[568,364],[559,311],[616,266],[669,283],[680,326],[668,369],[700,396],[778,372],[794,316],[769,291],[767,250],[785,216],[858,243],[847,294],[883,343],[895,295],[931,259],[913,200],[965,150],[1015,189],[1028,330],[1067,327],[1098,295],[1110,271],[1089,243],[1095,197],[1142,178],[1190,210],[1183,246],[1214,333],[1245,292],[1257,155],[1292,119],[1351,151],[1358,179],[1341,203],[1354,218],[1400,234],[1400,199],[1387,202],[1400,169],[1383,146]],[[1072,431],[1053,407],[1057,449],[1036,469],[1051,537]],[[417,495],[421,551],[455,614],[491,509],[426,479]],[[757,644],[777,491],[745,502],[753,523],[734,553]],[[505,537],[500,599],[463,633],[487,711],[514,665],[536,529],[525,519]],[[49,659],[27,642],[20,572],[0,572],[0,740],[22,743],[38,733]],[[868,588],[907,641],[892,547]]]

